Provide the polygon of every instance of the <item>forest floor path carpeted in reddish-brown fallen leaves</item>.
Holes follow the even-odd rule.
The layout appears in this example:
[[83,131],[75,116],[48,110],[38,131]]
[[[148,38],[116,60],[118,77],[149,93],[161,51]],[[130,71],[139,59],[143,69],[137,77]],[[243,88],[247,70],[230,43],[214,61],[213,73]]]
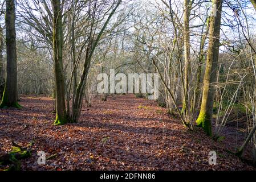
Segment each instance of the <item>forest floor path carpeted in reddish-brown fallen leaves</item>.
[[[185,129],[155,101],[97,98],[78,123],[64,126],[52,125],[51,98],[23,96],[20,104],[22,110],[0,110],[0,156],[12,141],[33,142],[22,170],[255,170],[226,152],[232,136],[214,142],[199,128]],[[39,166],[38,151],[53,157]],[[210,151],[218,154],[216,166],[208,163]]]

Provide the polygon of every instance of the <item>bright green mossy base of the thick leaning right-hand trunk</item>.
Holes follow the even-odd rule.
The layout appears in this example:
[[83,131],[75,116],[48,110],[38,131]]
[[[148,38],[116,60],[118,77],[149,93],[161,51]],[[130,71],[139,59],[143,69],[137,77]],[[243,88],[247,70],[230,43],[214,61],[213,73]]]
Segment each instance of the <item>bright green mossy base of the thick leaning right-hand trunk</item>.
[[197,126],[202,127],[205,133],[212,137],[212,121],[208,114],[200,112],[197,118]]

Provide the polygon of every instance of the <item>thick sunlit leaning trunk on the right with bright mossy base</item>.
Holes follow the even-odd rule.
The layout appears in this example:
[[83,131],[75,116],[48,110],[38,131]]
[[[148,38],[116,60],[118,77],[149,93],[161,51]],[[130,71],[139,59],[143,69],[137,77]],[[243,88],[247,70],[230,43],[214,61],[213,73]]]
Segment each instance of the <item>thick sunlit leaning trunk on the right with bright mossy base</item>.
[[196,121],[197,125],[201,126],[206,134],[210,136],[212,136],[212,114],[214,97],[214,87],[210,84],[216,81],[216,69],[218,66],[218,54],[220,48],[222,0],[213,0],[213,7],[216,7],[217,12],[216,16],[210,17],[209,48],[208,56],[206,59],[202,104],[200,114]]

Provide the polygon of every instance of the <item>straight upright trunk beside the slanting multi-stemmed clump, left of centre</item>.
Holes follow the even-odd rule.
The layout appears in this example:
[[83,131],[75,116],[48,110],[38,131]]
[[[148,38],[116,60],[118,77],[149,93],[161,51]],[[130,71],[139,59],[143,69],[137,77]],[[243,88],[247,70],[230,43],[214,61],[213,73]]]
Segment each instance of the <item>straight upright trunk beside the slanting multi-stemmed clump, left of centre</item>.
[[55,125],[63,125],[68,122],[65,104],[64,75],[62,62],[63,32],[62,32],[62,9],[60,0],[52,0],[54,10],[54,72],[56,89],[56,120]]

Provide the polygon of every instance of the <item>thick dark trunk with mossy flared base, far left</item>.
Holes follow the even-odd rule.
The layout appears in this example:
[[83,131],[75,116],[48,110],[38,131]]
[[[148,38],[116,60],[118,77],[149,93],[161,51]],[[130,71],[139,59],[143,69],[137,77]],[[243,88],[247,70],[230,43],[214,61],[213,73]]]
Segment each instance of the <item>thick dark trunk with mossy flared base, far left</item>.
[[6,83],[0,108],[18,107],[17,97],[17,52],[15,32],[15,3],[14,0],[6,1]]

